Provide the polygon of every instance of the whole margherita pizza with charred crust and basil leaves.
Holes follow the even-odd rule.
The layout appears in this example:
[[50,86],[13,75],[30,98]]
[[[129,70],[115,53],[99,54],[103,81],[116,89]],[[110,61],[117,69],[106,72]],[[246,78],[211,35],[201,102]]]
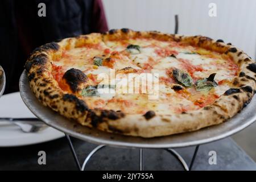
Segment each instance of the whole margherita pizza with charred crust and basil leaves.
[[230,43],[127,28],[45,44],[25,68],[38,100],[71,122],[144,138],[228,121],[256,89],[255,62]]

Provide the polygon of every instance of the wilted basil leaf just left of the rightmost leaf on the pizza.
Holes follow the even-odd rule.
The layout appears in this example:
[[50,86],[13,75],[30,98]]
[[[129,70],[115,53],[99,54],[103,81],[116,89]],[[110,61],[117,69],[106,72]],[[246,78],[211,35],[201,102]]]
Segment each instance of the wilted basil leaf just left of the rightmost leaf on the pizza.
[[191,76],[180,69],[174,69],[172,71],[172,76],[174,76],[175,80],[183,86],[192,86],[193,84]]

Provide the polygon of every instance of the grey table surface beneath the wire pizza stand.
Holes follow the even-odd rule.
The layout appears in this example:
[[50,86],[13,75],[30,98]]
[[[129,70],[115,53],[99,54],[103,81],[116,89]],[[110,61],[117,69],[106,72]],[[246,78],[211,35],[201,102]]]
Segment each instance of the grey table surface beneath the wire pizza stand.
[[[80,163],[96,144],[72,138]],[[189,164],[195,147],[176,148]],[[46,165],[38,164],[38,152],[46,152]],[[217,164],[209,164],[209,152],[217,154]],[[139,150],[105,147],[90,159],[87,170],[138,170]],[[0,170],[77,170],[67,140],[57,139],[32,146],[0,148]],[[162,149],[144,150],[144,170],[183,170],[181,164]],[[192,170],[256,170],[256,163],[231,139],[199,147]]]

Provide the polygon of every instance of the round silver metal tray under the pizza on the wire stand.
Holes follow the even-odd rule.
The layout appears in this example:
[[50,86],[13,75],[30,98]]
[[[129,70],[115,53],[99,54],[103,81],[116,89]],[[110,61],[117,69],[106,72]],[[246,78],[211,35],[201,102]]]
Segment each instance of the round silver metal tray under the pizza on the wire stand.
[[63,131],[72,137],[91,143],[107,144],[110,146],[139,148],[175,148],[193,146],[228,137],[245,129],[245,127],[256,120],[256,97],[254,97],[251,103],[247,105],[241,113],[238,113],[235,117],[220,125],[166,137],[130,137],[80,126],[48,107],[43,106],[30,89],[26,71],[24,71],[20,77],[19,89],[20,95],[28,109],[30,109],[38,118],[42,119],[47,125]]

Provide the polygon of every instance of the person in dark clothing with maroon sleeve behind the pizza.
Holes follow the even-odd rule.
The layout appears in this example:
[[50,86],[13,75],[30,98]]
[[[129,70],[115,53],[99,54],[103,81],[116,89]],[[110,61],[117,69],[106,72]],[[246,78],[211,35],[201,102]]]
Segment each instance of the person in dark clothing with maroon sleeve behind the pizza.
[[[39,17],[39,3],[46,16]],[[33,49],[63,38],[108,31],[101,0],[1,0],[0,65],[5,93],[19,90],[19,77]]]

